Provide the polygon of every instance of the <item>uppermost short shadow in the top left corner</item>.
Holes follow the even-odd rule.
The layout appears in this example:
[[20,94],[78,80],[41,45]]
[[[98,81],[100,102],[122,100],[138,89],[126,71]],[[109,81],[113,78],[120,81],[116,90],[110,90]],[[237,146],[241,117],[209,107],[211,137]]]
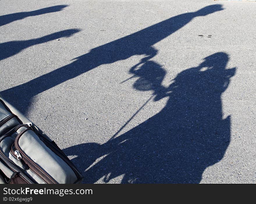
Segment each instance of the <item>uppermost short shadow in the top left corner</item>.
[[51,6],[51,7],[42,8],[39,10],[29,11],[29,12],[6,14],[3,16],[0,16],[0,26],[6,25],[13,21],[24,19],[29,16],[37,16],[37,15],[42,15],[42,14],[46,14],[46,13],[61,11],[65,7],[67,7],[67,5]]

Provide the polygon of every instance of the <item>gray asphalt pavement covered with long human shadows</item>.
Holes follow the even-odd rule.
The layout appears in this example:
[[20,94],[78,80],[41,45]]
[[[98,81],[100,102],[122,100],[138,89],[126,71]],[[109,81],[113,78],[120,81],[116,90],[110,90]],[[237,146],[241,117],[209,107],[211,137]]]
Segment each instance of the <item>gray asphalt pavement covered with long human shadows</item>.
[[84,183],[256,183],[256,3],[0,1],[0,94]]

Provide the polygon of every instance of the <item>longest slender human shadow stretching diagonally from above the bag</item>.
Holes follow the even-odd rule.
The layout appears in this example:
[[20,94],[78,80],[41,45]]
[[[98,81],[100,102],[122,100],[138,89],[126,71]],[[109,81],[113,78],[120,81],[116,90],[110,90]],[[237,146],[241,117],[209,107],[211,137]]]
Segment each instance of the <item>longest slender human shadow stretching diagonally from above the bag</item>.
[[[195,17],[206,16],[221,10],[223,10],[222,6],[215,4],[206,6],[195,12],[188,12],[171,17],[126,37],[93,48],[87,54],[73,59],[72,63],[68,65],[16,87],[4,90],[0,94],[26,114],[33,96],[102,64],[109,64],[128,59],[133,55],[142,54],[149,60],[158,52],[153,46],[155,43],[179,30]],[[24,100],[20,103],[20,101],[16,100],[17,98],[23,98]]]

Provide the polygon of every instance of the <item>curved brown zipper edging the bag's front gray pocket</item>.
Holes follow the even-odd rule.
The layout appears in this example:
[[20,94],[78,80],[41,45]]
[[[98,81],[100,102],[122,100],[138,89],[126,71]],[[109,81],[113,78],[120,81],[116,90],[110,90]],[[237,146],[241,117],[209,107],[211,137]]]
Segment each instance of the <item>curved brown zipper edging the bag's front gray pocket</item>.
[[[20,132],[17,137],[15,138],[15,148],[16,151],[18,151],[19,156],[23,161],[29,166],[29,168],[35,172],[40,178],[42,178],[46,183],[56,184],[58,183],[54,178],[52,178],[47,172],[45,172],[41,167],[39,167],[19,146],[18,140],[24,134],[27,130],[32,130],[31,128],[28,128],[26,130],[23,130]],[[33,131],[33,130],[32,130]],[[14,152],[15,154],[15,152]],[[16,156],[18,159],[18,156]]]

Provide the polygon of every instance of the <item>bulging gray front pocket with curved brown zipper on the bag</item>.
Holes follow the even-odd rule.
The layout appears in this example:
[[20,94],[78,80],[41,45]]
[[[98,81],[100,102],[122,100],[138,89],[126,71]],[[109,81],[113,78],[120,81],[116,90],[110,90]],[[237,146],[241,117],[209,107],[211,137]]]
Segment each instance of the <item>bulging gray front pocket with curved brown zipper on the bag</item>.
[[81,179],[64,153],[48,140],[39,138],[31,128],[17,135],[11,152],[45,183],[76,183]]

